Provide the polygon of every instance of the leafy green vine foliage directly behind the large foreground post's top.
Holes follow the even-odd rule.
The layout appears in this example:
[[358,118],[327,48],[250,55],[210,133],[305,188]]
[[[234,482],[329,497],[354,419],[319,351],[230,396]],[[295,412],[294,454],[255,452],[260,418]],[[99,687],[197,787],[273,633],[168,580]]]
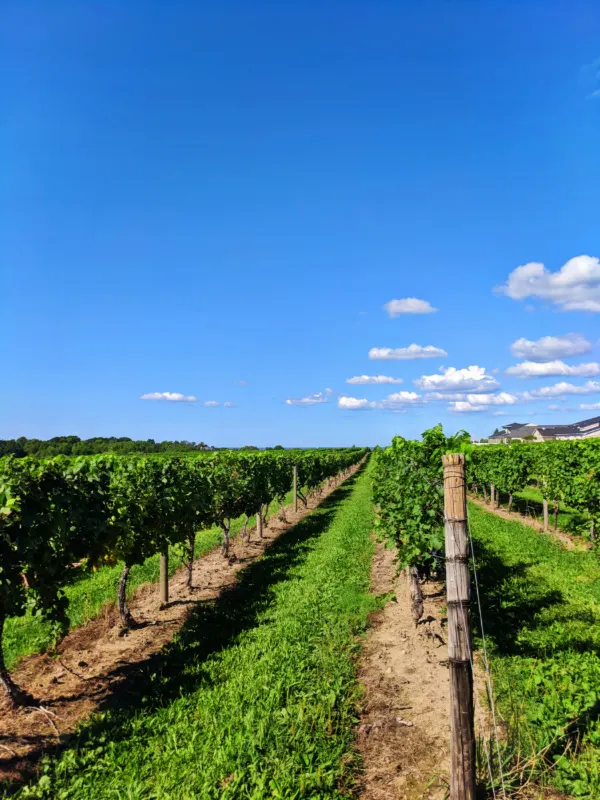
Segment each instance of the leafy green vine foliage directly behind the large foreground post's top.
[[443,549],[442,456],[470,453],[469,435],[445,436],[442,426],[425,431],[421,442],[394,437],[373,455],[376,526],[397,545],[400,565],[429,568]]

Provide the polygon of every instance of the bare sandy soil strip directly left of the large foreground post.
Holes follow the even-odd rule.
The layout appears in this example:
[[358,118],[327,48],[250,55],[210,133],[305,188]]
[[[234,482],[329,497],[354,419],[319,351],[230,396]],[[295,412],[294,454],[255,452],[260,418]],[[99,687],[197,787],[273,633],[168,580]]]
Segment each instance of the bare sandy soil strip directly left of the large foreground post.
[[425,611],[415,627],[404,576],[394,554],[377,544],[375,594],[395,592],[372,620],[359,667],[365,690],[358,726],[363,759],[361,800],[440,800],[449,760],[449,683],[441,585],[426,584]]

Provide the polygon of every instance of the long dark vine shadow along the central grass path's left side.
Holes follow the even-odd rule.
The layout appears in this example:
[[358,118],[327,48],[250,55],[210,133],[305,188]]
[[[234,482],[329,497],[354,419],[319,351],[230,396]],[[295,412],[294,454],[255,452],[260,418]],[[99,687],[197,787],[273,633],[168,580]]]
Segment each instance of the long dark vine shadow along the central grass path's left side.
[[206,683],[203,662],[233,646],[241,633],[258,624],[260,615],[272,602],[273,588],[308,556],[312,542],[332,523],[363,469],[275,539],[260,559],[238,572],[233,586],[222,589],[214,600],[192,601],[194,608],[172,643],[145,661],[113,670],[107,677],[119,682],[96,709],[97,713],[110,710],[110,718],[92,719],[79,734],[65,737],[50,748],[44,740],[26,759],[15,758],[14,770],[19,778],[8,785],[0,784],[0,791],[11,794],[34,779],[42,754],[58,756],[70,746],[89,743],[107,731],[113,742],[127,738],[127,723],[141,709],[152,712]]

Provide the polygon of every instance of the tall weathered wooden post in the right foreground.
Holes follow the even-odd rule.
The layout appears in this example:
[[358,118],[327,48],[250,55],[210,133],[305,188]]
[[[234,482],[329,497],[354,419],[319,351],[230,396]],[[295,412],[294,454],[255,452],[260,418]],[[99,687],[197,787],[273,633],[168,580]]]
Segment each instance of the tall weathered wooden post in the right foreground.
[[450,665],[450,800],[475,800],[475,721],[469,619],[465,457],[442,456]]

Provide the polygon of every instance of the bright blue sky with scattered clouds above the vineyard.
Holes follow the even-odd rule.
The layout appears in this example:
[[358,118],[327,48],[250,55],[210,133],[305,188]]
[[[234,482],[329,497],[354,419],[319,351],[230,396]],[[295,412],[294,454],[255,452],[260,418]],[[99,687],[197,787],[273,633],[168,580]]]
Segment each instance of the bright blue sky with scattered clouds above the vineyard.
[[[384,444],[600,413],[600,369],[572,374],[600,361],[595,0],[1,13],[0,437]],[[407,298],[437,311],[384,308]],[[447,356],[369,358],[411,344]],[[479,370],[422,379],[441,367]]]

